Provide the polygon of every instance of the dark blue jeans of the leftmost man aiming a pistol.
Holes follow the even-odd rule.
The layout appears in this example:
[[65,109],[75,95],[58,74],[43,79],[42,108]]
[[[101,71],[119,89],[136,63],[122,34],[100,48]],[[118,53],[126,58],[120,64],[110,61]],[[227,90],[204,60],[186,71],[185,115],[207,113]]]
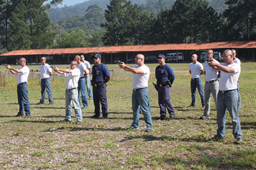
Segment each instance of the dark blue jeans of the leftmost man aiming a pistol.
[[17,86],[17,94],[18,94],[18,104],[19,104],[19,115],[24,115],[24,111],[26,115],[30,115],[30,104],[29,104],[29,93],[28,93],[28,85],[18,85]]

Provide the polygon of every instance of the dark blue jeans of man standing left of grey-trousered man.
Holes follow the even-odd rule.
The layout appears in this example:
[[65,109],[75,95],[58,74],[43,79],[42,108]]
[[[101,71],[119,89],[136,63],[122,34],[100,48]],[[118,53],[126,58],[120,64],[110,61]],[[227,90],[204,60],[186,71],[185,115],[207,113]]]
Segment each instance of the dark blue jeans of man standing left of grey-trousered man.
[[204,91],[203,91],[203,84],[202,84],[201,77],[196,78],[194,80],[191,79],[190,88],[191,88],[191,98],[192,98],[191,105],[196,106],[197,88],[198,88],[198,92],[201,96],[201,103],[202,103],[202,106],[204,106]]

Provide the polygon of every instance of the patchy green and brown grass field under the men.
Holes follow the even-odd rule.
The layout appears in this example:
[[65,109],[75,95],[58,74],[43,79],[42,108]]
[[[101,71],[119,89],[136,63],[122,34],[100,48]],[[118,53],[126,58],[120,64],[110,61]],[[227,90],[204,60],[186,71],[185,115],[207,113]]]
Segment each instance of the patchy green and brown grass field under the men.
[[[256,168],[256,63],[242,63],[239,78],[242,109],[239,112],[243,144],[234,144],[232,122],[226,116],[224,142],[209,141],[216,135],[216,107],[211,99],[210,119],[203,114],[197,92],[197,107],[190,105],[188,63],[170,64],[176,76],[170,91],[176,118],[159,117],[157,91],[152,82],[150,102],[153,131],[145,133],[143,115],[139,130],[127,130],[133,122],[132,74],[118,65],[108,65],[112,78],[107,86],[108,119],[92,119],[93,101],[82,110],[83,124],[59,123],[65,116],[66,79],[54,76],[54,105],[39,102],[39,74],[29,77],[30,118],[17,114],[16,79],[0,67],[0,168],[1,169],[255,169]],[[39,65],[30,66],[39,69]],[[59,66],[67,68],[67,65]],[[202,78],[204,82],[204,76]],[[48,96],[48,95],[47,95]],[[74,111],[72,122],[76,122]]]

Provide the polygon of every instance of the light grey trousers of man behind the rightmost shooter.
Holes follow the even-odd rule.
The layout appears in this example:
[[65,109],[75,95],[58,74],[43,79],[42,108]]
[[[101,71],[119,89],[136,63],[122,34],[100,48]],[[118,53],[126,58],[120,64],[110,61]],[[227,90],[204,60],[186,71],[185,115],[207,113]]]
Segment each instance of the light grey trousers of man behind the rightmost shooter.
[[219,82],[215,81],[212,83],[205,82],[204,84],[204,101],[205,101],[205,108],[204,108],[204,115],[209,116],[210,114],[210,94],[214,97],[215,106],[217,105],[217,95],[219,92]]

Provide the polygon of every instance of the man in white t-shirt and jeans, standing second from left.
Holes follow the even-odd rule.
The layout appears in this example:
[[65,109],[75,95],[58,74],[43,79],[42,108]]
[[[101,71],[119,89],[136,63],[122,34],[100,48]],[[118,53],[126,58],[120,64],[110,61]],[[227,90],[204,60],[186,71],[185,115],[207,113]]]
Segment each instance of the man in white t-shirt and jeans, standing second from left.
[[52,98],[52,90],[51,90],[51,83],[50,83],[50,77],[52,76],[52,68],[49,64],[46,63],[46,58],[41,57],[41,66],[40,66],[40,72],[41,72],[41,99],[40,102],[37,103],[37,105],[45,104],[45,98],[46,98],[46,92],[49,96],[49,105],[53,104],[53,98]]

